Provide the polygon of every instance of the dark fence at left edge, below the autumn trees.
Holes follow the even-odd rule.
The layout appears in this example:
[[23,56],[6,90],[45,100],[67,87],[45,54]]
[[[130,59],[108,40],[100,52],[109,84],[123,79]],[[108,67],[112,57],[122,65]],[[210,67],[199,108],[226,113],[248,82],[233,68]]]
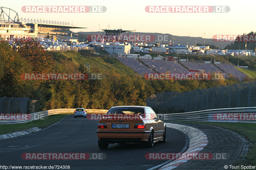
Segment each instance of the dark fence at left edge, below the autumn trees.
[[33,113],[37,101],[25,97],[0,97],[0,113]]

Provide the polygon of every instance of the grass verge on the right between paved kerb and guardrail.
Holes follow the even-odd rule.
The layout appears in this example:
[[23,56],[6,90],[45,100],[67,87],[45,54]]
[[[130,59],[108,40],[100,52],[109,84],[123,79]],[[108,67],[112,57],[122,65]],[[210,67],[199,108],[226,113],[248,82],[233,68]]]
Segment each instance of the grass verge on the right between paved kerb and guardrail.
[[[224,129],[230,129],[239,133],[240,135],[244,136],[248,141],[252,143],[250,146],[250,150],[245,157],[244,161],[237,161],[234,165],[244,165],[244,166],[255,166],[256,165],[256,123],[223,123],[223,122],[194,122],[189,121],[186,123],[192,124],[205,124],[205,125],[212,125],[218,126]],[[234,166],[233,165],[233,166]]]

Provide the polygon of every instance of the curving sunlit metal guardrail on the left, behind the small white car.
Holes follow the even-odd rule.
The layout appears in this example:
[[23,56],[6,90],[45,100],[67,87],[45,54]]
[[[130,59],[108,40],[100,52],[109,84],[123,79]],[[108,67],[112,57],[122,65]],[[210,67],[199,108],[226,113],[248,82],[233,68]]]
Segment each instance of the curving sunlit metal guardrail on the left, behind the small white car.
[[[76,109],[52,109],[45,110],[41,112],[31,113],[27,115],[27,118],[24,120],[3,120],[3,116],[0,114],[0,124],[13,124],[13,123],[26,123],[34,120],[45,118],[49,115],[61,114],[61,113],[73,113]],[[85,109],[87,113],[107,113],[108,110],[104,109]],[[2,119],[1,119],[2,116]],[[10,116],[9,116],[10,117]]]

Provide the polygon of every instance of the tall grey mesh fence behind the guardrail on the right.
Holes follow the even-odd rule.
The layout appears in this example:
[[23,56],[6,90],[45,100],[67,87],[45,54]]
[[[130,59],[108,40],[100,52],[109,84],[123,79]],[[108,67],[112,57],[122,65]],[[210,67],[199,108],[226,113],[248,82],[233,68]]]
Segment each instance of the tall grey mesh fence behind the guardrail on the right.
[[256,82],[189,92],[162,92],[146,99],[157,113],[183,113],[207,109],[256,106]]

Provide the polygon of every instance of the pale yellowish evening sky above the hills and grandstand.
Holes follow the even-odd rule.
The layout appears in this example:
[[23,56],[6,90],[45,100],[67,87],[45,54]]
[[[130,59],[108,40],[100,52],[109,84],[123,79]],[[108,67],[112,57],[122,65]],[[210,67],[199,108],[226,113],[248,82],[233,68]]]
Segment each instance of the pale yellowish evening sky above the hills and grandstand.
[[[1,0],[1,6],[16,11],[19,18],[42,18],[73,22],[73,32],[92,32],[101,29],[136,30],[145,33],[169,33],[177,36],[212,38],[213,35],[241,35],[256,31],[255,1],[238,0]],[[101,13],[29,13],[23,6],[105,6]],[[146,6],[228,6],[221,13],[149,13]],[[204,34],[205,33],[205,34]]]

